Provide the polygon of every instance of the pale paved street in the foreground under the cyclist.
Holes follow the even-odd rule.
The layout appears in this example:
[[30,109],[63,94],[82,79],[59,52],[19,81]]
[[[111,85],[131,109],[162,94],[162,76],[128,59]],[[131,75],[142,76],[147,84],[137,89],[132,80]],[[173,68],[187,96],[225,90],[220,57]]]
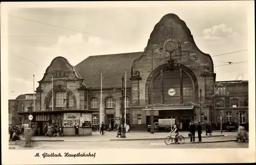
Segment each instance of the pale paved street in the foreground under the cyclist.
[[[203,138],[203,142],[211,142],[217,140],[233,140],[233,136],[222,136],[222,137],[208,137]],[[197,140],[197,139],[196,139]],[[18,142],[18,145],[9,145],[16,149],[24,149],[25,142]],[[162,139],[152,139],[152,140],[127,140],[127,141],[73,141],[73,142],[33,142],[34,148],[29,149],[166,149],[166,148],[248,148],[248,143],[244,142],[224,142],[224,143],[196,143],[190,144],[189,138],[185,138],[185,144],[173,144],[166,145]]]

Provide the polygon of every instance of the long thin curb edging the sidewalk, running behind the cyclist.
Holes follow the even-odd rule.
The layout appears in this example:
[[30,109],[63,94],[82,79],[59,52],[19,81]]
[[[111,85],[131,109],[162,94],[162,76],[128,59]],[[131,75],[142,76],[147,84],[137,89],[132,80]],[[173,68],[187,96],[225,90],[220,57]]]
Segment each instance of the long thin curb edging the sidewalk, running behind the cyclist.
[[[205,136],[204,138],[208,137],[221,137],[221,136],[228,136],[228,135],[212,135],[212,136]],[[185,138],[190,138],[190,137],[185,137]],[[31,140],[31,142],[100,142],[100,141],[122,141],[122,140],[163,140],[165,137],[160,137],[160,138],[132,138],[132,139],[127,139],[127,138],[119,138],[119,139],[74,139],[74,140],[62,140],[62,139],[52,139],[52,140]],[[25,140],[20,140],[20,141],[25,141]]]

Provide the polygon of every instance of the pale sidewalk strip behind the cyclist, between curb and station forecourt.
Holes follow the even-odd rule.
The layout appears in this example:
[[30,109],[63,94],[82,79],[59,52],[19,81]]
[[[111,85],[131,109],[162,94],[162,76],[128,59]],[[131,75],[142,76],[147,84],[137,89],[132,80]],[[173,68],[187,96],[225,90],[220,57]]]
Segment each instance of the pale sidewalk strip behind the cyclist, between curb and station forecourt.
[[[180,135],[183,135],[185,138],[188,137],[189,132],[180,132]],[[99,132],[93,132],[91,136],[33,136],[33,141],[47,142],[47,141],[62,141],[62,142],[72,142],[72,141],[110,141],[110,140],[151,140],[151,139],[164,139],[169,135],[167,132],[155,132],[154,134],[148,132],[130,132],[126,133],[126,138],[116,137],[117,132],[105,132],[104,135],[100,135]],[[236,132],[213,132],[212,135],[206,136],[204,133],[202,134],[202,138],[210,138],[210,137],[223,137],[223,136],[234,137]],[[196,133],[196,137],[198,134]],[[22,137],[21,140],[25,140],[25,137]]]

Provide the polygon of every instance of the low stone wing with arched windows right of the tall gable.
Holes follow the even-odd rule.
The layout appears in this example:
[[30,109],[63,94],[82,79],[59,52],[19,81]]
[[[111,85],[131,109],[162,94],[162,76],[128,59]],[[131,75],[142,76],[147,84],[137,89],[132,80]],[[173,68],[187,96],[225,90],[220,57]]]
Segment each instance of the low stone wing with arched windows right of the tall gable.
[[[222,117],[224,128],[231,121],[236,125],[242,124],[248,129],[248,81],[217,82],[215,91],[216,123],[220,124]],[[236,107],[233,106],[235,104]],[[242,112],[244,112],[244,116],[242,116]],[[227,117],[227,115],[231,117]]]

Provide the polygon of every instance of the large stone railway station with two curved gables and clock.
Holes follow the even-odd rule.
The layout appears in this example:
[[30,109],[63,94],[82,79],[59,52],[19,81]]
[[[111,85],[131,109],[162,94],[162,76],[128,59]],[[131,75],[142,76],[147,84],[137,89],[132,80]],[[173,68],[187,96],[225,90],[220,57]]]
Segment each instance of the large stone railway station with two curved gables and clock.
[[[248,125],[248,81],[216,82],[210,55],[200,51],[177,15],[163,16],[142,50],[89,56],[75,66],[63,57],[54,58],[38,81],[35,109],[22,108],[25,103],[19,98],[25,95],[9,100],[9,105],[15,102],[16,122],[26,122],[24,116],[32,114],[33,122],[72,127],[88,114],[98,127],[102,72],[101,119],[108,125],[122,123],[124,105],[126,123],[134,130],[146,130],[151,124],[152,107],[154,122],[173,118],[183,130],[191,121],[218,125],[220,116],[224,123]],[[122,97],[125,70],[126,99]]]

